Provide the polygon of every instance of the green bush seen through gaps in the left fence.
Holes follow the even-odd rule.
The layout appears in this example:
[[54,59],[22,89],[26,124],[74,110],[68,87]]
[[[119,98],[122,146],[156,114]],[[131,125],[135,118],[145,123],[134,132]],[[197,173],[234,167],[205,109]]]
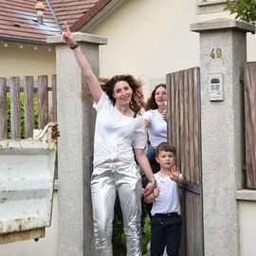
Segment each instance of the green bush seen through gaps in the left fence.
[[[9,93],[7,93],[8,102],[8,138],[11,137],[10,133],[10,99]],[[24,92],[20,94],[20,106],[21,106],[21,137],[25,138],[25,120],[24,120]],[[34,129],[38,129],[38,101],[34,99]]]

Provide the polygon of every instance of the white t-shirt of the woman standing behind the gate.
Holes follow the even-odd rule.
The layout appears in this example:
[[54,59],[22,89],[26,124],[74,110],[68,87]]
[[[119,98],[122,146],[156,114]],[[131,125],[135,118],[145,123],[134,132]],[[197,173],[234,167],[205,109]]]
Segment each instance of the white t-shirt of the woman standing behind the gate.
[[157,147],[161,142],[167,142],[167,122],[157,109],[148,110],[142,118],[149,122],[148,134],[153,147]]

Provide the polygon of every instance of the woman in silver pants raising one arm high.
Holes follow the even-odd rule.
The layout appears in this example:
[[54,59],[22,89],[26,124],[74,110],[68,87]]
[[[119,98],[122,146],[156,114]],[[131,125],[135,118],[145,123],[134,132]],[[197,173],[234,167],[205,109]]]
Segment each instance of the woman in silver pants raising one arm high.
[[115,76],[105,81],[102,90],[66,24],[65,28],[62,40],[73,49],[97,111],[94,171],[91,178],[96,253],[99,256],[113,255],[112,222],[118,192],[126,234],[127,256],[140,256],[142,189],[134,152],[137,163],[150,180],[143,191],[144,195],[155,189],[155,176],[144,153],[145,125],[143,119],[137,115],[140,106],[135,98],[139,83],[130,75]]

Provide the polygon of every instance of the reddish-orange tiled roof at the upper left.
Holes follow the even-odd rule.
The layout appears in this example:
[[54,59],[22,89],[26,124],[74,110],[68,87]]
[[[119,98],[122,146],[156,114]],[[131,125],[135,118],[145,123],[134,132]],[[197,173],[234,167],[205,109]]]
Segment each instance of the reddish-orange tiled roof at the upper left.
[[46,37],[60,34],[65,21],[71,31],[78,31],[109,2],[45,0],[44,23],[39,25],[36,0],[1,0],[0,40],[46,45]]

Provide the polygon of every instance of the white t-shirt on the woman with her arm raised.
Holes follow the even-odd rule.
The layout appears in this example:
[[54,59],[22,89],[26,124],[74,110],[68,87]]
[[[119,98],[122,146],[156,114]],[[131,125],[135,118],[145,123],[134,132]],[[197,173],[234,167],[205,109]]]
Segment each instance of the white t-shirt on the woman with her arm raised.
[[104,92],[93,107],[97,111],[94,166],[110,159],[136,163],[132,146],[144,149],[147,139],[142,117],[135,119],[122,115]]

